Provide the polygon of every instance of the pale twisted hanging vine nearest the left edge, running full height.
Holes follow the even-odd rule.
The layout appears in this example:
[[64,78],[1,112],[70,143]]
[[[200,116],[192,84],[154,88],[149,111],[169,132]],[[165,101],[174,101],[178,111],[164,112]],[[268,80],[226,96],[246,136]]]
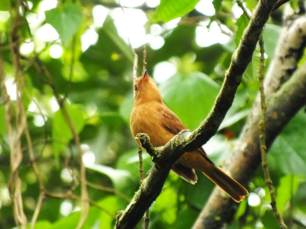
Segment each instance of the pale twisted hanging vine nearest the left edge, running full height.
[[[21,179],[19,176],[19,166],[22,161],[22,152],[21,152],[21,135],[25,129],[25,122],[26,119],[24,116],[20,115],[21,104],[22,101],[22,91],[20,90],[22,87],[20,86],[20,79],[22,78],[20,72],[20,53],[19,53],[19,35],[18,35],[18,28],[23,24],[21,15],[19,14],[19,7],[21,1],[17,1],[16,6],[12,7],[11,2],[9,1],[9,11],[13,12],[15,10],[15,17],[11,20],[11,32],[9,35],[9,43],[16,44],[10,45],[11,46],[11,54],[13,60],[13,67],[14,67],[14,79],[16,83],[16,109],[15,109],[15,125],[17,128],[17,133],[14,134],[12,129],[10,129],[11,133],[9,134],[9,141],[10,141],[10,165],[11,165],[11,173],[9,176],[9,191],[11,200],[13,202],[13,210],[14,210],[14,218],[17,226],[21,226],[22,228],[26,228],[27,226],[27,217],[25,216],[24,209],[23,209],[23,201],[22,201],[22,194],[21,194]],[[2,74],[1,74],[2,75]],[[4,76],[2,78],[4,83]],[[4,86],[5,87],[5,86]],[[7,91],[5,89],[6,95],[4,98],[8,98]],[[7,102],[6,106],[6,123],[7,125],[12,125],[12,109],[10,108],[10,101]],[[12,126],[11,126],[12,127]]]

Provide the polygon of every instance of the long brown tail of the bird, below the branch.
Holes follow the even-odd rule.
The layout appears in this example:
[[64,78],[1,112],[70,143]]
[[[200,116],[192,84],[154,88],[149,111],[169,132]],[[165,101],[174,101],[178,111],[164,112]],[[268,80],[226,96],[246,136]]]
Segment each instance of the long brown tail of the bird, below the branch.
[[224,173],[217,165],[203,172],[216,185],[222,188],[234,201],[240,202],[248,195],[248,191],[232,177]]

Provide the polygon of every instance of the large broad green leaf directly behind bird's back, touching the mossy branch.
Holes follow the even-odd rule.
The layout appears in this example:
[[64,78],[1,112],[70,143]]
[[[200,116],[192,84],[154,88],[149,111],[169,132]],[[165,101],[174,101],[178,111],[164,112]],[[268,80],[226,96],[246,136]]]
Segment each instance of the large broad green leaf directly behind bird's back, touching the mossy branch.
[[201,72],[177,73],[159,87],[165,104],[188,129],[197,128],[213,106],[220,86]]

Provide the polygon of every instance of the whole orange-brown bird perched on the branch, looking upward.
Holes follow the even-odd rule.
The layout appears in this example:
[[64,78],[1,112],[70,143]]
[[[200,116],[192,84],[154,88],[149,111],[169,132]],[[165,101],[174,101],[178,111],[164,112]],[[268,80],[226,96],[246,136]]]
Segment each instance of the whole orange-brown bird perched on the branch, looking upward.
[[[134,106],[130,126],[134,138],[137,133],[146,133],[154,147],[165,145],[174,135],[187,129],[163,103],[162,96],[147,71],[134,82]],[[248,195],[248,191],[241,184],[224,173],[207,157],[202,147],[184,153],[171,170],[184,180],[195,184],[197,182],[195,169],[203,172],[236,202],[240,202]]]

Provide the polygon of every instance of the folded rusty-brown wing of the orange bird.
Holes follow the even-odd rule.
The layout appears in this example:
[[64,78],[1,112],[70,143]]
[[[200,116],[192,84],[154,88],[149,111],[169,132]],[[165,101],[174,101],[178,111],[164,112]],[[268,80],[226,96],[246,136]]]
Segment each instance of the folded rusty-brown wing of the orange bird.
[[[165,104],[162,104],[158,112],[161,114],[160,122],[162,126],[170,133],[177,135],[182,130],[187,129],[182,121]],[[207,155],[203,147],[200,147],[196,151],[202,155]]]

